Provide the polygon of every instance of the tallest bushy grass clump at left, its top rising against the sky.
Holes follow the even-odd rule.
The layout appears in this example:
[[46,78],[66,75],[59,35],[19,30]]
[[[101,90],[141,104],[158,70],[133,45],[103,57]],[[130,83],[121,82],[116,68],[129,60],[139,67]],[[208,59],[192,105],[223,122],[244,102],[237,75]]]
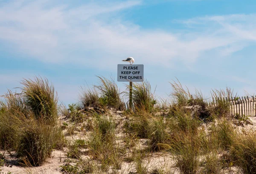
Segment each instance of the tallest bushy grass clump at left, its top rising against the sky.
[[34,80],[24,79],[21,84],[25,104],[33,111],[35,117],[54,124],[57,119],[58,99],[52,84],[41,77],[35,77]]

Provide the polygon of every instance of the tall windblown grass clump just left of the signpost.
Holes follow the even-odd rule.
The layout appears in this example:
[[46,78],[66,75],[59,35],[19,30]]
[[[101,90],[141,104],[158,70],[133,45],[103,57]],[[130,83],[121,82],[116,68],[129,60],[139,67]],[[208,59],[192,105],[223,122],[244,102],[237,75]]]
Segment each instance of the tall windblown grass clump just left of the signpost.
[[113,78],[107,79],[105,77],[97,77],[99,78],[100,83],[95,87],[101,94],[100,102],[105,106],[123,110],[124,106],[120,99],[120,92]]

